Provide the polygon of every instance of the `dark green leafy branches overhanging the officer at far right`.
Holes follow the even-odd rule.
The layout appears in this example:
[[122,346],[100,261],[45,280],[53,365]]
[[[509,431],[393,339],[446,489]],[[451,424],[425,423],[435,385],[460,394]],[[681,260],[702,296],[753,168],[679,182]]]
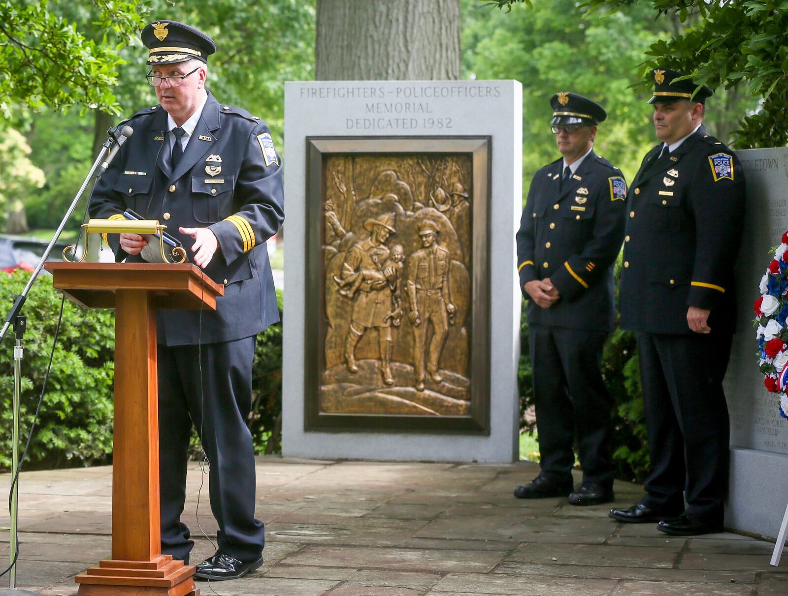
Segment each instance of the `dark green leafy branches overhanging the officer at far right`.
[[[740,89],[763,100],[735,131],[740,149],[788,142],[788,2],[785,0],[586,0],[581,8],[618,11],[650,5],[660,17],[678,17],[685,28],[655,42],[641,65],[640,83],[651,68],[665,65],[686,72],[698,85]],[[690,24],[695,21],[694,24]],[[741,114],[739,114],[741,116]]]

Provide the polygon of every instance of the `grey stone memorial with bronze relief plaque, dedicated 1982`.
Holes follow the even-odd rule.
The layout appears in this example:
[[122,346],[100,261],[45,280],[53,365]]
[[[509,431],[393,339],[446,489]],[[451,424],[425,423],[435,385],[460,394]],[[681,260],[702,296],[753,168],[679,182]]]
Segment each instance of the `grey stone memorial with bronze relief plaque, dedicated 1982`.
[[521,106],[515,81],[286,84],[284,455],[517,458]]

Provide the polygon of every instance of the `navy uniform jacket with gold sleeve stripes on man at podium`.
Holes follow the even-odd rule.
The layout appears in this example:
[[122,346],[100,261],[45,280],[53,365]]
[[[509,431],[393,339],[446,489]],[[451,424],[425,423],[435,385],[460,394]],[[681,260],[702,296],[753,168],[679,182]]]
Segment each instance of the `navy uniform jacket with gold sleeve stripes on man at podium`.
[[[281,159],[266,123],[219,104],[208,92],[202,116],[175,171],[165,163],[167,112],[160,105],[127,121],[134,134],[95,186],[91,217],[122,218],[131,208],[158,219],[194,255],[179,227],[207,227],[219,248],[205,273],[225,285],[216,311],[161,311],[158,342],[187,345],[251,337],[279,320],[266,240],[284,220]],[[221,168],[221,169],[217,169]],[[109,236],[117,261],[139,261]],[[202,333],[200,333],[202,317]]]

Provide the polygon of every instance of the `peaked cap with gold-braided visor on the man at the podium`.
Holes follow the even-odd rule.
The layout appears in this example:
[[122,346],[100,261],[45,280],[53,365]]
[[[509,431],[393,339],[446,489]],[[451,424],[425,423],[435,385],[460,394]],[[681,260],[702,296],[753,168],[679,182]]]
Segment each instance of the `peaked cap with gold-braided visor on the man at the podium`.
[[157,20],[143,29],[143,43],[151,52],[147,64],[176,64],[192,58],[207,64],[216,44],[203,31],[175,20]]

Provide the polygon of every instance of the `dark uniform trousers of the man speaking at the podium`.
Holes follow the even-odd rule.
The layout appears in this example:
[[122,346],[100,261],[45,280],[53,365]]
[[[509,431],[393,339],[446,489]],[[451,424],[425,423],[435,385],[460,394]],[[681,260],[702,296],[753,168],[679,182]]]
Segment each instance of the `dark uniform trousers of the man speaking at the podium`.
[[202,346],[158,344],[157,349],[162,553],[188,561],[194,545],[180,521],[193,422],[210,465],[218,546],[240,561],[256,561],[265,530],[255,519],[255,452],[246,425],[255,337]]

